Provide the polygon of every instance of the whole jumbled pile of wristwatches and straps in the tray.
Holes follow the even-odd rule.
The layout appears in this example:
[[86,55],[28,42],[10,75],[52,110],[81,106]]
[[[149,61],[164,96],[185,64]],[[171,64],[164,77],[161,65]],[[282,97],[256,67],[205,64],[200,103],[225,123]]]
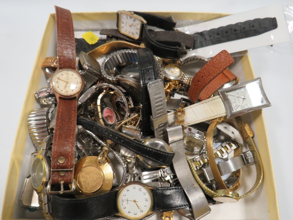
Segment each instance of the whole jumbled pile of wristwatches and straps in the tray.
[[[200,219],[254,192],[263,166],[240,115],[270,106],[260,78],[238,84],[226,50],[185,54],[268,19],[190,35],[173,16],[118,11],[117,29],[100,30],[93,47],[56,6],[58,57],[44,60],[41,108],[28,116],[36,151],[21,204],[46,219]],[[255,184],[240,196],[240,169],[251,164]]]

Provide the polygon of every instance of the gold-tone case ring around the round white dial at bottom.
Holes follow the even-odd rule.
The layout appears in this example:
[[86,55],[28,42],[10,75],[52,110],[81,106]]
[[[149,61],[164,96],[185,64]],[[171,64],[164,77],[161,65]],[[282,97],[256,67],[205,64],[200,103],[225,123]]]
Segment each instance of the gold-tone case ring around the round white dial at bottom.
[[[130,218],[129,216],[125,216],[123,215],[123,213],[121,212],[121,208],[119,206],[119,201],[118,201],[118,198],[122,192],[122,190],[129,186],[129,185],[140,185],[142,187],[144,187],[148,192],[149,192],[149,195],[150,195],[150,199],[151,199],[151,204],[150,204],[150,208],[149,208],[149,211],[146,212],[146,214],[144,214],[143,216],[139,217],[139,218]],[[115,188],[114,190],[118,190],[118,193],[117,193],[117,197],[116,197],[116,205],[117,205],[117,209],[118,209],[118,213],[115,214],[117,216],[120,216],[120,217],[124,217],[124,218],[127,218],[127,219],[130,219],[130,220],[140,220],[140,219],[143,219],[147,216],[150,216],[151,214],[154,214],[156,211],[152,211],[152,207],[154,205],[154,198],[153,198],[153,194],[151,192],[151,189],[155,189],[155,187],[152,187],[152,186],[149,186],[149,185],[146,185],[142,182],[137,182],[137,181],[132,181],[132,182],[128,182],[126,183],[125,185],[123,186],[120,186],[120,187],[117,187]]]

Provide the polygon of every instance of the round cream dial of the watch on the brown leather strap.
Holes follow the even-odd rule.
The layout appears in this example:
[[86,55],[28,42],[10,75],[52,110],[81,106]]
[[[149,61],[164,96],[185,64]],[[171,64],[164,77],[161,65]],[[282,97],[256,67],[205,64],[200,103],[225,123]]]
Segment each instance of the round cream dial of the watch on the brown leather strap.
[[60,95],[71,96],[80,91],[83,81],[79,73],[74,70],[63,69],[53,75],[51,84]]

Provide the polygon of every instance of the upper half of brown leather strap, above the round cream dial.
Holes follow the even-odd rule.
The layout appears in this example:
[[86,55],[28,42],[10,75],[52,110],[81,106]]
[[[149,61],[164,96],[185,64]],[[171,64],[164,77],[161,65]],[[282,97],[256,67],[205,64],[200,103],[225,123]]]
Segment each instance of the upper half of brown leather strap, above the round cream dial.
[[76,52],[71,12],[55,6],[57,28],[57,54],[59,69],[76,69]]

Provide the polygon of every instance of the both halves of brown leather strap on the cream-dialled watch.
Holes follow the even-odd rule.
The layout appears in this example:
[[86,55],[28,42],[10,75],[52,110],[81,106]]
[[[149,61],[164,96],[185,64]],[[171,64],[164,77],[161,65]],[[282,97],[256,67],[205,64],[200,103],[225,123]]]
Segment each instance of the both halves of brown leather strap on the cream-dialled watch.
[[[59,69],[76,69],[71,12],[55,6]],[[77,99],[58,98],[51,158],[51,184],[72,183]]]

